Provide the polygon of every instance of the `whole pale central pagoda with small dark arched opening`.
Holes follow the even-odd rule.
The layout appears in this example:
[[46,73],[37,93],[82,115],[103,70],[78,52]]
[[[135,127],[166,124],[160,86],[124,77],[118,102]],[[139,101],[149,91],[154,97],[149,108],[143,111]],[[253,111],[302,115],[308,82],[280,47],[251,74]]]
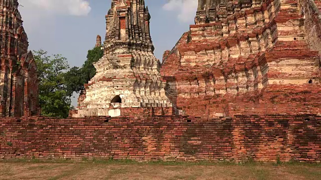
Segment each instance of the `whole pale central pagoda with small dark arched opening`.
[[144,0],[112,0],[106,15],[104,55],[85,84],[74,117],[120,115],[120,108],[172,108],[153,55],[150,15]]

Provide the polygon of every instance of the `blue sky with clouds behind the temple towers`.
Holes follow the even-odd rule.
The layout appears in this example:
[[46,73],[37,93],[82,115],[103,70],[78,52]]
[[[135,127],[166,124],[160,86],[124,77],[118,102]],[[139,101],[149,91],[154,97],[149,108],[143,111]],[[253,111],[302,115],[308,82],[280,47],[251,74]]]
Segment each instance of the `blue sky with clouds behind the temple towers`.
[[[71,67],[81,66],[87,51],[95,46],[96,36],[99,34],[104,39],[105,15],[111,0],[18,1],[30,50],[61,54]],[[154,54],[159,60],[194,24],[197,3],[198,0],[145,0],[151,15]]]

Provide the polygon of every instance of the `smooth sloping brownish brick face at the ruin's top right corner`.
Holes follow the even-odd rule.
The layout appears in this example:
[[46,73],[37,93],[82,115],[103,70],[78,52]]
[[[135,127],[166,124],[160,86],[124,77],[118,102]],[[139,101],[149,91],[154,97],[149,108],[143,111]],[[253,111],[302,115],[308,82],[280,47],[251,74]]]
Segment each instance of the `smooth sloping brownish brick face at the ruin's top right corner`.
[[304,14],[306,40],[311,49],[321,55],[321,8],[320,0],[299,0],[301,13]]

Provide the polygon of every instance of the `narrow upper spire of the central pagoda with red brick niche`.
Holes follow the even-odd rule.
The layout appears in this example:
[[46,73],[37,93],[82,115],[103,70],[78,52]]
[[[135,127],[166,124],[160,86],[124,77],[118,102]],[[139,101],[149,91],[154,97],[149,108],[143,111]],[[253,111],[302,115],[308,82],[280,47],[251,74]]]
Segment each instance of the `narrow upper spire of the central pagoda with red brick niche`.
[[106,15],[106,51],[153,52],[149,33],[150,14],[144,0],[112,0]]

